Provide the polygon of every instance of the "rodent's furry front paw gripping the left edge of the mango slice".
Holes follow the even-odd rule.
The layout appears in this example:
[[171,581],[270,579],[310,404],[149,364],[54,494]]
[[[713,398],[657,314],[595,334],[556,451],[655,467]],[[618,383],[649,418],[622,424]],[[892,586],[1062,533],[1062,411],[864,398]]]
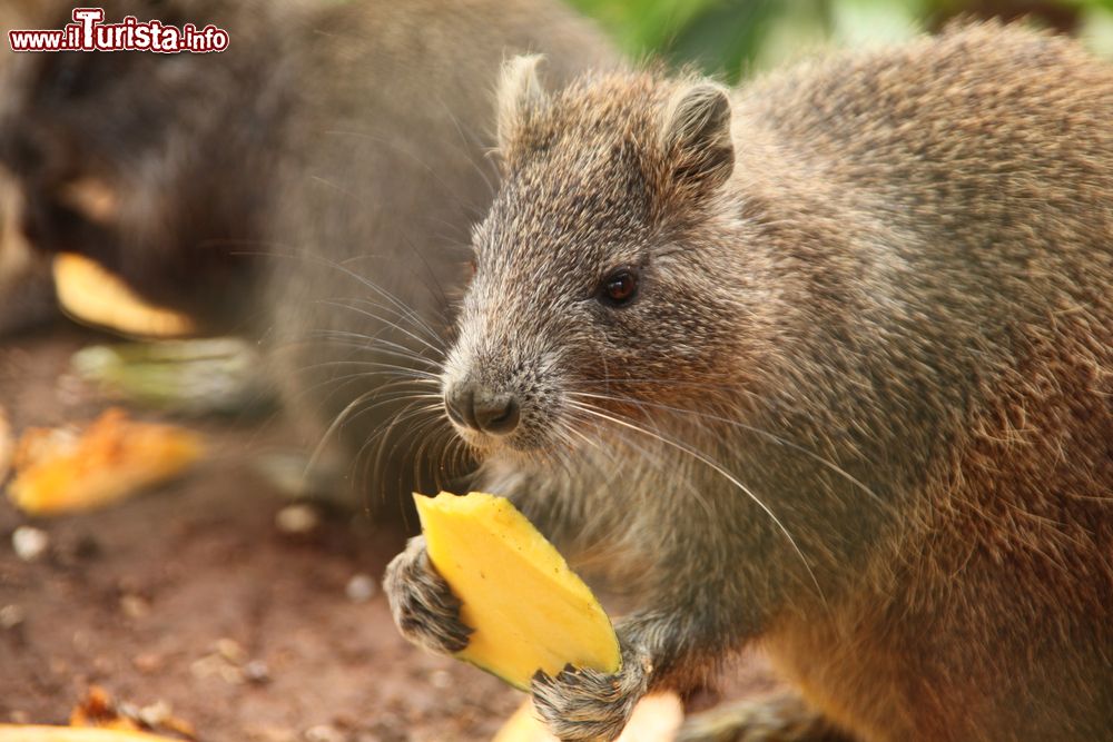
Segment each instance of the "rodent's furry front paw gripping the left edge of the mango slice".
[[434,652],[467,646],[472,630],[460,621],[460,598],[429,561],[425,538],[411,538],[386,566],[383,578],[394,623],[402,635]]

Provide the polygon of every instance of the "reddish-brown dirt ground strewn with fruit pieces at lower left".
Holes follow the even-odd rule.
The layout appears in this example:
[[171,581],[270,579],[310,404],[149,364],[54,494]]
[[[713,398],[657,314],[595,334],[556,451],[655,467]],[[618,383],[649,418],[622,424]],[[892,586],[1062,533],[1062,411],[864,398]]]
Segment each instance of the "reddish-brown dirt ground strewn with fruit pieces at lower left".
[[[104,339],[66,325],[0,339],[17,432],[107,406],[68,372]],[[411,647],[380,591],[349,595],[358,575],[377,587],[404,528],[322,511],[311,532],[284,532],[288,502],[253,465],[283,449],[283,425],[186,424],[211,453],[157,492],[50,520],[0,502],[0,722],[65,723],[96,684],[138,709],[169,704],[203,742],[490,739],[521,694]],[[24,524],[49,535],[30,562],[12,547]],[[749,669],[727,694],[760,684]]]

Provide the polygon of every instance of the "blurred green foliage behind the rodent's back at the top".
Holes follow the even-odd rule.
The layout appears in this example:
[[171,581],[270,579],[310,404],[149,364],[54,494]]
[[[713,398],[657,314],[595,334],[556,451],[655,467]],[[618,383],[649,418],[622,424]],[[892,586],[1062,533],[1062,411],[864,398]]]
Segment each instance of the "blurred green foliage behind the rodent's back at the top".
[[630,56],[692,62],[735,81],[829,46],[900,41],[955,17],[1078,34],[1113,57],[1113,0],[572,0]]

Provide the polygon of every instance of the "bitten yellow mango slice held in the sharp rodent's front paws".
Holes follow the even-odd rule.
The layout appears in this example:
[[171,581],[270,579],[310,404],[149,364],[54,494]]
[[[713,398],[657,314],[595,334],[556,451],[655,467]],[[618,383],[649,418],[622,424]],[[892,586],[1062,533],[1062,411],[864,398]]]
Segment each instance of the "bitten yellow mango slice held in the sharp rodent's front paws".
[[538,670],[621,666],[599,601],[560,553],[503,497],[414,495],[430,561],[474,629],[456,657],[528,690]]

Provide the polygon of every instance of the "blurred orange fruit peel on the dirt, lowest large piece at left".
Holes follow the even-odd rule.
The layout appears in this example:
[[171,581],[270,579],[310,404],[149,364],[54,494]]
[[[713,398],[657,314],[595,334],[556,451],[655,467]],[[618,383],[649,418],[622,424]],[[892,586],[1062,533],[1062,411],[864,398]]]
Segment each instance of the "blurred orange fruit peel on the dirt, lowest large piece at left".
[[170,479],[203,454],[200,437],[109,409],[83,432],[33,428],[16,452],[8,497],[30,515],[93,509]]

